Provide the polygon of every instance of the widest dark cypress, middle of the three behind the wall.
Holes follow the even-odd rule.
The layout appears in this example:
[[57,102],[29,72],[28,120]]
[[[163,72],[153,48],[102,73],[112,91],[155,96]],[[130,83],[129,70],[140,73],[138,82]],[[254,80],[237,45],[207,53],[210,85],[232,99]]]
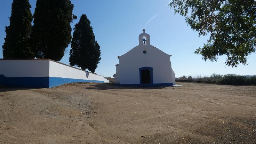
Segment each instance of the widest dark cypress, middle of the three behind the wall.
[[60,61],[71,42],[70,22],[74,5],[70,0],[37,0],[30,45],[37,58]]

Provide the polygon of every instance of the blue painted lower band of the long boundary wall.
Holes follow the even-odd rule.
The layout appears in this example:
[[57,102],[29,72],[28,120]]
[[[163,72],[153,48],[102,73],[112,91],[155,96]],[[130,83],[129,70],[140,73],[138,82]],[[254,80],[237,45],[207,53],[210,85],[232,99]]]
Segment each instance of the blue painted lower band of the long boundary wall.
[[31,88],[51,88],[61,84],[76,82],[104,83],[98,80],[83,80],[62,77],[5,77],[0,75],[0,85],[9,87],[31,87]]

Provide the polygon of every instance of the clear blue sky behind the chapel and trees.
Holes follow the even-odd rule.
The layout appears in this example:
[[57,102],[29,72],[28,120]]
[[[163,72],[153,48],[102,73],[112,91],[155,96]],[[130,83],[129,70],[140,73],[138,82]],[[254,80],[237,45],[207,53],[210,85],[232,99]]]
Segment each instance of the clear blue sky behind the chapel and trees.
[[[75,5],[73,13],[78,19],[71,23],[71,27],[79,21],[82,14],[86,14],[91,21],[96,40],[100,44],[101,60],[96,73],[110,77],[116,73],[115,64],[119,63],[117,56],[123,55],[139,44],[138,36],[142,29],[150,35],[151,45],[172,55],[172,68],[176,77],[182,75],[210,76],[218,74],[256,74],[256,54],[252,53],[248,59],[248,66],[238,65],[237,68],[225,66],[225,56],[219,57],[217,62],[202,60],[201,55],[195,55],[196,48],[203,46],[206,37],[199,37],[184,20],[184,17],[174,15],[167,3],[169,0],[71,0]],[[34,13],[36,0],[29,0]],[[5,26],[9,26],[8,17],[11,16],[12,0],[2,0],[0,5],[0,45],[4,43]],[[69,64],[69,49],[60,62]],[[3,58],[2,47],[0,58]]]

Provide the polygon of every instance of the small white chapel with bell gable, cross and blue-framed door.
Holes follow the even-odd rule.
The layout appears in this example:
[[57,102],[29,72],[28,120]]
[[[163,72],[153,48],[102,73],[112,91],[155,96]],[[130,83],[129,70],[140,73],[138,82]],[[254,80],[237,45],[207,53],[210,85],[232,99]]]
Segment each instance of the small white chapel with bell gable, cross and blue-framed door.
[[171,55],[150,45],[150,36],[139,35],[139,45],[118,56],[115,82],[121,85],[175,85]]

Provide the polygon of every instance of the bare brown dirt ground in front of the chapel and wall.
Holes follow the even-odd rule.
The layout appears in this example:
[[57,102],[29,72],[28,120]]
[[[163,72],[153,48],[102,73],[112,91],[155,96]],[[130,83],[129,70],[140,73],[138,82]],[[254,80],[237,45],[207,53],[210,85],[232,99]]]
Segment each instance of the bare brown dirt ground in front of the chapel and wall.
[[0,88],[0,143],[256,143],[256,86]]

